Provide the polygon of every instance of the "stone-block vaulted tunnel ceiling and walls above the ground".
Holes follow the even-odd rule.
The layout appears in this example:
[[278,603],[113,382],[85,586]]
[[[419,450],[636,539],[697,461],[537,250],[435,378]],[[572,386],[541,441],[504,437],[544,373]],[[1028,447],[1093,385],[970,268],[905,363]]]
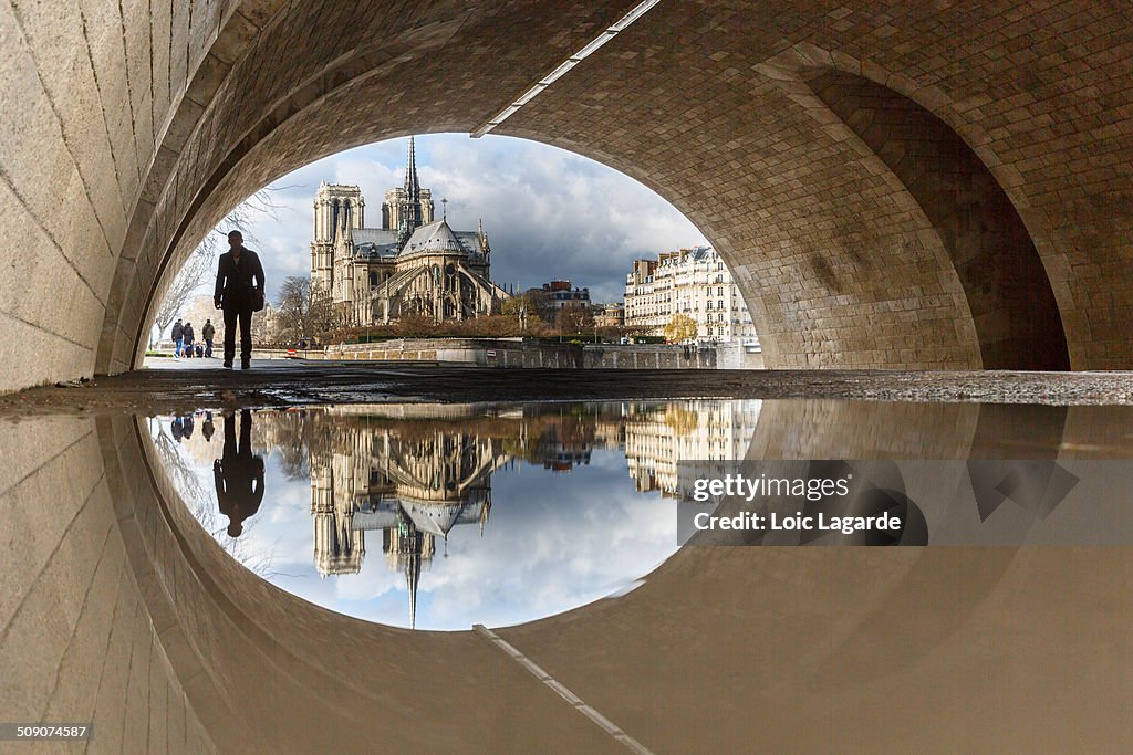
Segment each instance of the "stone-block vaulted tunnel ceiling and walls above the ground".
[[[0,8],[0,87],[20,105],[0,113],[0,208],[22,250],[0,283],[0,388],[136,364],[168,273],[245,196],[346,147],[469,131],[634,3],[172,5]],[[495,132],[684,212],[772,367],[1030,367],[1064,342],[1074,369],[1128,368],[1131,57],[1125,3],[662,0]],[[868,86],[815,85],[842,75]],[[937,136],[874,138],[870,93]],[[972,211],[959,155],[928,161],[928,185],[953,177],[943,205],[894,162],[940,135],[1005,212]],[[1005,237],[1033,248],[1026,285],[981,241]],[[1031,282],[1049,295],[1020,297]]]

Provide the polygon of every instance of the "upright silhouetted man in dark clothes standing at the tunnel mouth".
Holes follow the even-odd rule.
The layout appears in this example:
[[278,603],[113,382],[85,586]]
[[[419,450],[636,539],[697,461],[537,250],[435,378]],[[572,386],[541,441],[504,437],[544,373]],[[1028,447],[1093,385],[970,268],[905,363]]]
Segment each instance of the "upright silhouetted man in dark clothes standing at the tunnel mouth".
[[252,312],[263,308],[264,267],[259,256],[244,248],[244,234],[228,234],[228,251],[220,256],[213,303],[224,310],[224,367],[236,358],[236,326],[240,325],[240,369],[252,366]]

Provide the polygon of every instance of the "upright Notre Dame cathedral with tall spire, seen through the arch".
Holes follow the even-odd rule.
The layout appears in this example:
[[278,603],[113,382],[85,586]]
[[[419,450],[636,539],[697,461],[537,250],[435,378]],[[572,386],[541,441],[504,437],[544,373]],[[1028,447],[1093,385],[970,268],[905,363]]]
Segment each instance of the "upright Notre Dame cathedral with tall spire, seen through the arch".
[[347,325],[500,312],[509,294],[489,277],[484,224],[453,231],[445,217],[433,218],[432,191],[417,181],[412,137],[404,183],[385,192],[382,228],[365,226],[365,209],[357,186],[323,182],[315,195],[310,281],[330,291]]

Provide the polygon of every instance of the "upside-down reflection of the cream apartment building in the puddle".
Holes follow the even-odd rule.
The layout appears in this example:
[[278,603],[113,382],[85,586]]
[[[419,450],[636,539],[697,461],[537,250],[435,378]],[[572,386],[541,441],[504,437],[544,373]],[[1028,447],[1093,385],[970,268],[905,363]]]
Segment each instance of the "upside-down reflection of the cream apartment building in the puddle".
[[625,462],[638,490],[678,492],[681,461],[744,457],[759,419],[758,401],[682,401],[631,411]]

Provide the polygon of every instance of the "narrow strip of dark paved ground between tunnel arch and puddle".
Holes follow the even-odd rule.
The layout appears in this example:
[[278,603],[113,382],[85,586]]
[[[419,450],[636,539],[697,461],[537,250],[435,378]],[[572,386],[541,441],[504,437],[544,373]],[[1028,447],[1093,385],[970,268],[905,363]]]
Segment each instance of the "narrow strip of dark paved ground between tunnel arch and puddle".
[[0,395],[0,417],[142,413],[370,402],[622,398],[844,398],[904,402],[1131,404],[1130,372],[897,370],[502,370],[384,362],[162,361],[82,384]]

